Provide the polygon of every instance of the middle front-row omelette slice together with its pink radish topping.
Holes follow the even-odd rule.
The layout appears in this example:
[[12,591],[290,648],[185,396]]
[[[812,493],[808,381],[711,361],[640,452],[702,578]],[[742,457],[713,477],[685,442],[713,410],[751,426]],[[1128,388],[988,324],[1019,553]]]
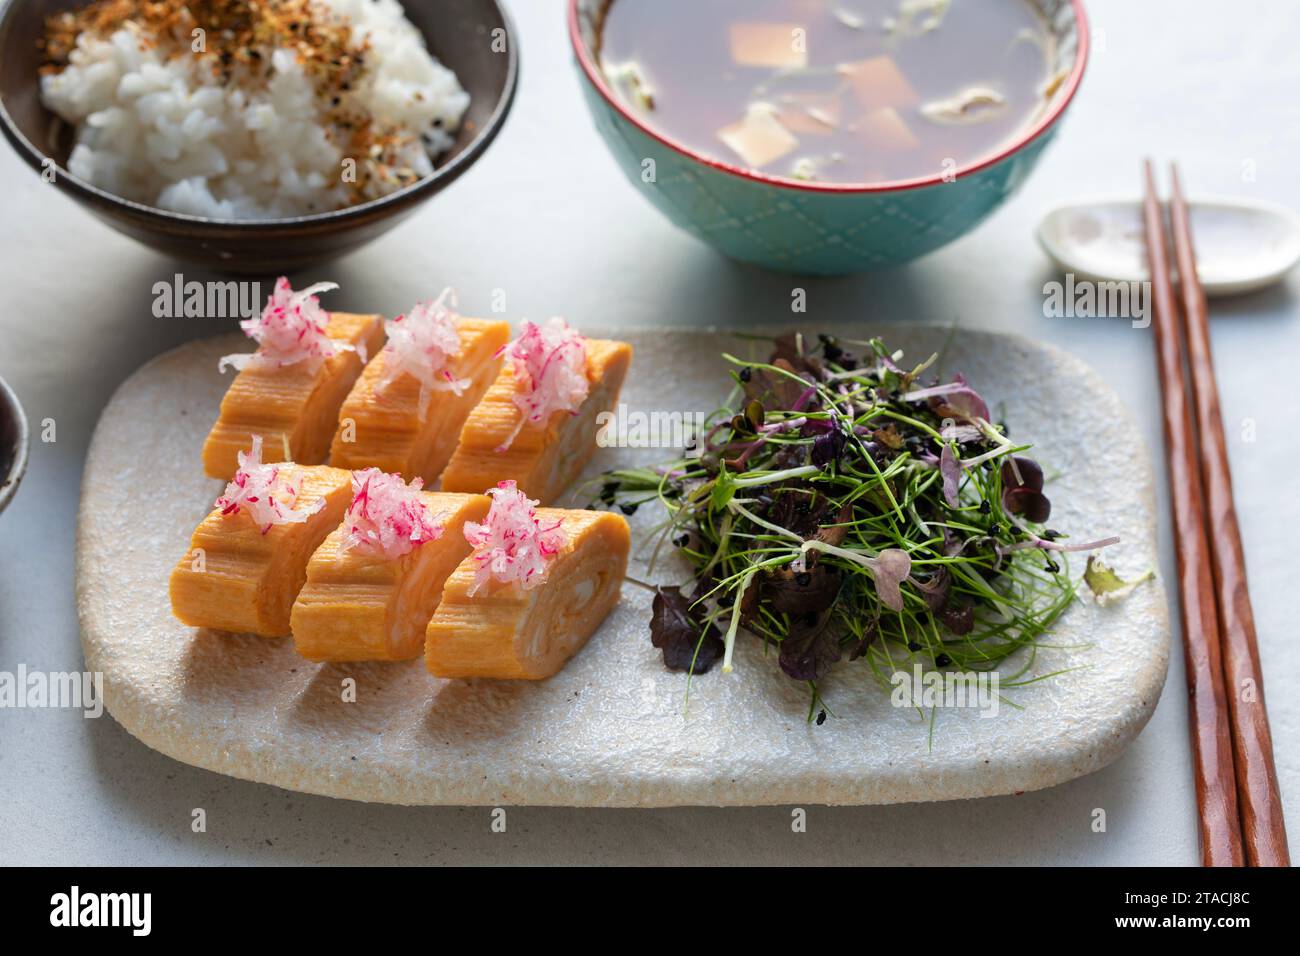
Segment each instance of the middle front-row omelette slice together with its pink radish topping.
[[408,661],[442,584],[469,554],[465,522],[488,514],[485,494],[407,486],[377,468],[354,472],[352,503],[307,564],[294,602],[294,646],[311,661]]

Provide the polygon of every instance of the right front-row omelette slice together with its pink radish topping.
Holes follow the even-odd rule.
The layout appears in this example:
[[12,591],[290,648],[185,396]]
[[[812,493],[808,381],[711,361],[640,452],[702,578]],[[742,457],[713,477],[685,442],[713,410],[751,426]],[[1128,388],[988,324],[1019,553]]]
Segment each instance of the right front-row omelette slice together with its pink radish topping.
[[541,680],[618,605],[630,533],[607,511],[533,509],[512,483],[465,535],[474,551],[442,588],[425,666],[439,678]]

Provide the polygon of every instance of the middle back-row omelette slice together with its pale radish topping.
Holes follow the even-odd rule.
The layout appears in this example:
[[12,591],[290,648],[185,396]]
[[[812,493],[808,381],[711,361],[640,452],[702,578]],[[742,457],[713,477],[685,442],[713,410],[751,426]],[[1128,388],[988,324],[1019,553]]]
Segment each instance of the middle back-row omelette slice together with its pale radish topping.
[[387,323],[387,345],[339,410],[330,464],[437,481],[510,339],[508,323],[460,316],[454,306],[443,290]]

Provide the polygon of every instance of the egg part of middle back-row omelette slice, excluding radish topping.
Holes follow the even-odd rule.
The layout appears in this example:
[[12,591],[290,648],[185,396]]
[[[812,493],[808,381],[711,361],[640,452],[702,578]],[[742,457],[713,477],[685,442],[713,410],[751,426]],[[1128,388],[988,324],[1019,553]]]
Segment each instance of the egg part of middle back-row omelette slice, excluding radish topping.
[[460,394],[441,390],[424,395],[421,382],[410,375],[381,388],[394,360],[391,350],[382,350],[365,367],[339,410],[330,464],[376,467],[408,480],[421,477],[426,484],[438,479],[455,451],[465,419],[500,371],[498,352],[510,339],[506,321],[458,316],[455,326],[460,351],[448,360],[446,371],[464,382]]

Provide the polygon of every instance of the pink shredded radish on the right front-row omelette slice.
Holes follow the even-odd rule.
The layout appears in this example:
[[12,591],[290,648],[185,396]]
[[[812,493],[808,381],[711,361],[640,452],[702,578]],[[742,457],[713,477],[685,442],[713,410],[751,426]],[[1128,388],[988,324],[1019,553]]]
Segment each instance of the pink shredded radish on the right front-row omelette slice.
[[490,580],[502,584],[516,583],[524,591],[537,587],[546,576],[546,564],[564,546],[562,522],[542,527],[536,501],[515,488],[514,481],[502,481],[490,489],[491,507],[484,523],[465,522],[465,541],[474,549],[478,566],[473,596]]

